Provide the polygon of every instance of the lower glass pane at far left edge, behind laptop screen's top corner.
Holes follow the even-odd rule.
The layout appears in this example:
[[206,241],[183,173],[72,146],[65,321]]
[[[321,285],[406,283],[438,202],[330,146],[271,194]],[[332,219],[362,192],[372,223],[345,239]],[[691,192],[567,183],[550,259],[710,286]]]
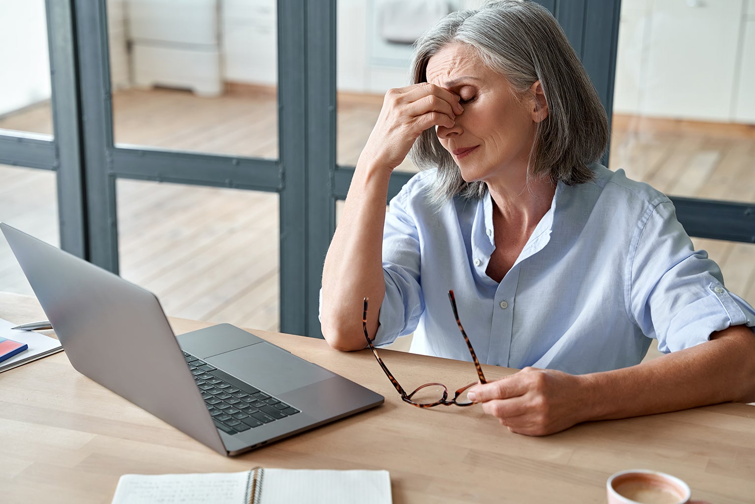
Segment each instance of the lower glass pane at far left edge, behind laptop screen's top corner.
[[[0,164],[0,222],[59,247],[56,183],[54,171]],[[34,295],[2,233],[0,290]]]

